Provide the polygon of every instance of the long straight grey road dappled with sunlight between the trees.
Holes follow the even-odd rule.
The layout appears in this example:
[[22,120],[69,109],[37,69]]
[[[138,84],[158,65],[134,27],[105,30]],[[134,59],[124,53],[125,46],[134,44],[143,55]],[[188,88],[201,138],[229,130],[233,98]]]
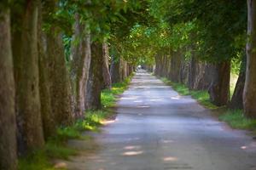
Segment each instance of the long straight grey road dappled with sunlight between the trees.
[[65,161],[68,169],[256,170],[256,140],[146,71],[137,71],[117,113],[93,146],[71,142],[84,154]]

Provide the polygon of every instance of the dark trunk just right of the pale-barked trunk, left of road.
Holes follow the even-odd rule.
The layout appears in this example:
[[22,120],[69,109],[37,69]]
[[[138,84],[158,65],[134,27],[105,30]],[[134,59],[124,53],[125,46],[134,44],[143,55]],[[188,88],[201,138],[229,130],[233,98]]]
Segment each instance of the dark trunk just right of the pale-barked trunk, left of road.
[[89,71],[89,82],[86,93],[86,109],[101,109],[101,89],[102,89],[102,44],[93,42],[91,48],[91,61]]

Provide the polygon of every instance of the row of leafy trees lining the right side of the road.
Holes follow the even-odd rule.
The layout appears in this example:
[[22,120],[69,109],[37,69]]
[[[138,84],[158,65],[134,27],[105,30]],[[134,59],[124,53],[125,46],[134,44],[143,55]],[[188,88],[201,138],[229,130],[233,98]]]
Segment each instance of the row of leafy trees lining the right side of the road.
[[[148,31],[161,38],[151,42],[155,63],[148,69],[155,64],[156,75],[208,90],[213,104],[256,118],[256,2],[153,0],[152,6],[162,9],[152,11],[159,29],[147,28],[143,38]],[[230,71],[239,75],[231,99]]]

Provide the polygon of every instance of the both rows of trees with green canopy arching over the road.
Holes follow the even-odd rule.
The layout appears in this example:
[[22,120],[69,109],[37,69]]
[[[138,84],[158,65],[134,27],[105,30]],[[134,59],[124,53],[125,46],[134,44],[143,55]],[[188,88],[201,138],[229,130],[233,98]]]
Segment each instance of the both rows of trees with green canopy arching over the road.
[[[255,118],[255,9],[253,0],[1,1],[0,169],[100,109],[101,90],[138,63]],[[231,100],[230,71],[239,72]]]

